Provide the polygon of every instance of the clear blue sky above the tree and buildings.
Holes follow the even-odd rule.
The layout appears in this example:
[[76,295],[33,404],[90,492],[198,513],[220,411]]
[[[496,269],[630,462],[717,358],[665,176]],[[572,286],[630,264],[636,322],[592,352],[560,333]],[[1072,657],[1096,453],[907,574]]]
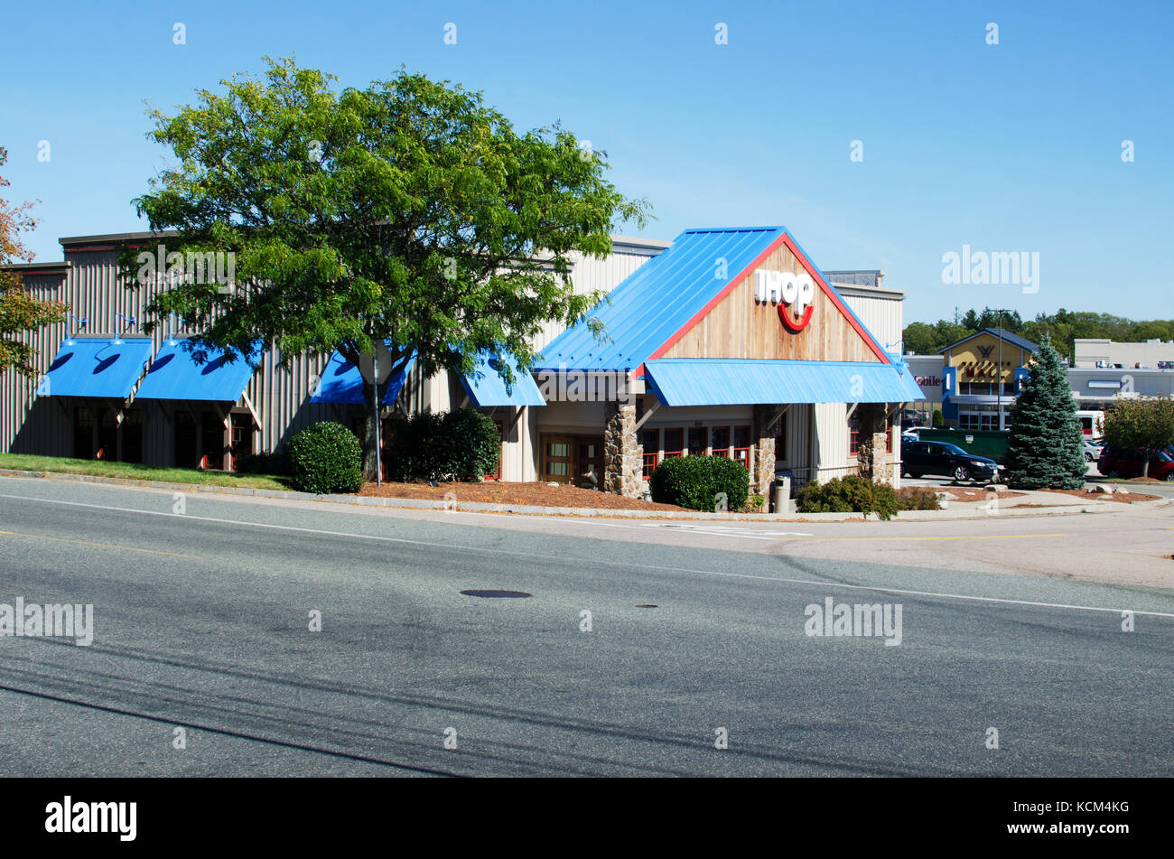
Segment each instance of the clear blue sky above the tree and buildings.
[[[670,239],[785,224],[823,269],[884,269],[905,319],[1174,316],[1174,5],[1136,2],[68,2],[0,12],[11,199],[60,236],[146,229],[129,201],[169,153],[149,102],[193,101],[261,58],[343,86],[410,70],[483,90],[606,150]],[[173,25],[187,45],[173,43]],[[457,25],[457,45],[444,26]],[[715,45],[715,25],[728,45]],[[999,45],[986,43],[989,22]],[[38,161],[38,143],[50,161]],[[850,146],[863,143],[853,163]],[[1132,140],[1135,161],[1124,163]],[[630,226],[621,231],[634,232]],[[1039,290],[945,285],[942,257],[1040,255]]]

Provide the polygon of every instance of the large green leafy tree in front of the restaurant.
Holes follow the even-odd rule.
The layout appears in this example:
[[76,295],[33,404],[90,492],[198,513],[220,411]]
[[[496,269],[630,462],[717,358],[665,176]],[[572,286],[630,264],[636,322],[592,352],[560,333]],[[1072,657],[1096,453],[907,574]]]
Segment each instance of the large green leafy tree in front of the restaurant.
[[[358,363],[384,341],[393,373],[414,354],[425,374],[467,374],[495,352],[513,359],[498,361],[510,386],[546,323],[573,324],[602,298],[575,293],[574,256],[603,257],[618,223],[645,223],[647,203],[603,178],[606,153],[556,123],[515,131],[479,93],[404,70],[336,92],[331,75],[266,62],[174,116],[153,113],[176,163],[140,214],[178,231],[169,250],[234,253],[243,284],[189,278],[150,303],[148,330],[170,313],[197,327],[197,359],[215,346],[255,363],[261,344]],[[134,264],[127,251],[131,280]],[[373,474],[386,383],[364,390]]]

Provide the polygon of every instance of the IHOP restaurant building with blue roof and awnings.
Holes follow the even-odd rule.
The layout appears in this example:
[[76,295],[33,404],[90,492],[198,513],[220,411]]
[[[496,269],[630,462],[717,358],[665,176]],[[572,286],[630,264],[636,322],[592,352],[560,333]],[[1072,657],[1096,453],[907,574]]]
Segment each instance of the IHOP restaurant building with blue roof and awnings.
[[[72,317],[26,336],[39,378],[0,380],[0,451],[231,469],[310,424],[359,425],[363,383],[338,354],[283,364],[269,352],[254,372],[216,354],[196,364],[182,329],[135,333],[153,288],[123,286],[116,253],[161,238],[65,238],[63,262],[14,266]],[[410,367],[389,386],[387,413],[491,414],[501,480],[640,495],[663,459],[709,453],[745,465],[764,495],[776,473],[898,481],[893,426],[924,397],[886,351],[900,340],[903,293],[880,272],[821,272],[770,226],[687,230],[670,244],[618,237],[606,259],[576,259],[572,278],[609,292],[592,313],[602,338],[586,323],[549,327],[512,390],[493,359],[468,378]]]

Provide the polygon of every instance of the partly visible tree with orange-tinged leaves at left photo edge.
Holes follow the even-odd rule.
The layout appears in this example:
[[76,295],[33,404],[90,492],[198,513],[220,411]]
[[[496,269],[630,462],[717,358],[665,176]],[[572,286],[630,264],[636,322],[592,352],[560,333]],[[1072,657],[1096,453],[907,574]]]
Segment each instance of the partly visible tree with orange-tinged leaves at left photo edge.
[[[0,147],[0,165],[8,160],[8,150]],[[11,182],[0,176],[0,188]],[[20,273],[7,266],[33,262],[33,253],[20,239],[20,234],[36,226],[29,215],[33,203],[13,205],[0,197],[0,373],[9,367],[22,376],[33,376],[36,350],[21,343],[25,332],[52,325],[66,318],[62,302],[42,302],[25,291]]]

